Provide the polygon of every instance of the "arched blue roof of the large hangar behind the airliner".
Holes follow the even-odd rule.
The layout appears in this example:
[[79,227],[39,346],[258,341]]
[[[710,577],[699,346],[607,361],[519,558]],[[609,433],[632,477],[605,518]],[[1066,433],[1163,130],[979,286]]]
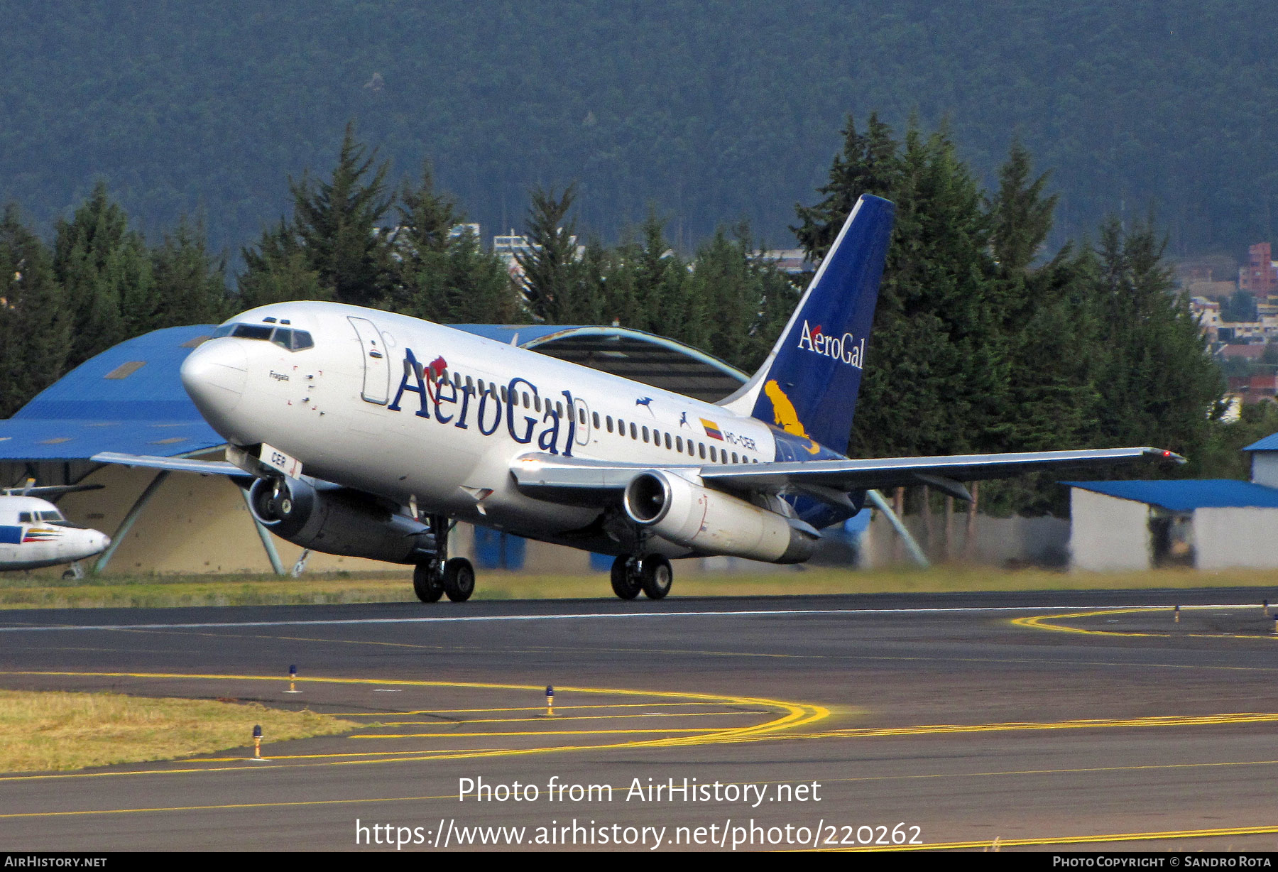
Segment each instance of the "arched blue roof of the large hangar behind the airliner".
[[[746,378],[709,354],[639,330],[455,326],[699,399],[727,396]],[[187,354],[212,331],[213,325],[156,330],[75,367],[13,418],[0,421],[0,467],[84,462],[100,451],[183,456],[222,446],[225,440],[199,417],[178,376]],[[38,472],[42,483],[51,474]],[[10,473],[13,478],[36,471]]]

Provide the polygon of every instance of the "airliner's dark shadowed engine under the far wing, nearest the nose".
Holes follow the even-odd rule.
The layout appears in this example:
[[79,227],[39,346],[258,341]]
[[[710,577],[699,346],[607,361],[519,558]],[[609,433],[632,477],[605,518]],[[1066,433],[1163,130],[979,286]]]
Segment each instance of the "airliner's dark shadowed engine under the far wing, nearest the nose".
[[248,492],[253,517],[282,540],[350,557],[415,564],[435,537],[394,504],[312,478],[258,478]]

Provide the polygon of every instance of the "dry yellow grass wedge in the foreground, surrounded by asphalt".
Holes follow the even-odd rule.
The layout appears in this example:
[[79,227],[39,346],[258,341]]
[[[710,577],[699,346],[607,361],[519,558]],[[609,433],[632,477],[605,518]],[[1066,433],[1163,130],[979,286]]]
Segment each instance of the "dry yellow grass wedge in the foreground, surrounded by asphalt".
[[139,763],[243,748],[252,744],[254,725],[262,726],[267,743],[367,726],[259,703],[0,690],[0,772]]

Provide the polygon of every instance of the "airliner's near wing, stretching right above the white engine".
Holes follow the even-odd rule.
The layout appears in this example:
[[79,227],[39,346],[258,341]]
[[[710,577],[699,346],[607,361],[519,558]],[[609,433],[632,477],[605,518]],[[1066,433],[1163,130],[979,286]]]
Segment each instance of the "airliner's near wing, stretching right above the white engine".
[[[958,499],[971,496],[960,482],[1008,478],[1028,472],[1074,472],[1162,459],[1185,458],[1155,448],[1091,449],[1081,451],[1020,451],[1013,454],[955,454],[929,458],[865,460],[809,460],[663,467],[700,476],[725,490],[778,494],[796,491],[836,505],[847,494],[879,487],[929,485]],[[521,491],[555,502],[594,504],[625,490],[630,479],[652,464],[619,464],[532,454],[519,458],[511,473]]]

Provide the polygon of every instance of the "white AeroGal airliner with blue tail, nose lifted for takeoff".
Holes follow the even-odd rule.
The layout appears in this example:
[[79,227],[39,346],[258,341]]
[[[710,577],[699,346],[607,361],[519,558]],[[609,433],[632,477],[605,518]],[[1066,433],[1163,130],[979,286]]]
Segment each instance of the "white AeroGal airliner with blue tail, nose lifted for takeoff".
[[[670,557],[812,556],[874,487],[1077,469],[1150,448],[845,456],[893,206],[864,196],[763,366],[703,403],[403,315],[276,303],[221,325],[181,380],[227,460],[100,454],[235,477],[303,547],[414,564],[423,601],[466,600],[456,520],[616,556],[612,589],[659,600]],[[969,497],[970,499],[970,497]]]

